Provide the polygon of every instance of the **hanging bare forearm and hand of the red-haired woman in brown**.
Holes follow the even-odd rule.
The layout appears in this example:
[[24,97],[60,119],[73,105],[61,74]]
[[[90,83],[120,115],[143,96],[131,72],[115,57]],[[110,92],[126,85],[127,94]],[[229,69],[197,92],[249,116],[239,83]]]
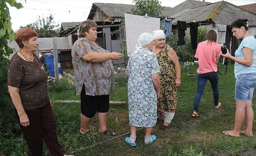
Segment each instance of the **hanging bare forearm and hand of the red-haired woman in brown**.
[[29,126],[29,118],[24,110],[24,107],[21,103],[21,98],[20,98],[20,88],[17,87],[12,87],[8,85],[8,91],[11,95],[13,104],[18,112],[18,115],[20,117],[20,124],[24,127]]

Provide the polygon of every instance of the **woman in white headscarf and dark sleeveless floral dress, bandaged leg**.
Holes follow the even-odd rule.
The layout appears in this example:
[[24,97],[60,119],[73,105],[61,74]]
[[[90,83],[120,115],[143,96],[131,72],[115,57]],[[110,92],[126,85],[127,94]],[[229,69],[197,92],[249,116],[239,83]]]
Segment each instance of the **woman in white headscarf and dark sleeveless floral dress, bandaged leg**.
[[160,68],[161,91],[158,98],[158,119],[164,119],[160,129],[169,127],[177,108],[177,87],[181,85],[180,66],[174,49],[165,43],[163,30],[153,31],[155,45],[153,52],[157,55]]

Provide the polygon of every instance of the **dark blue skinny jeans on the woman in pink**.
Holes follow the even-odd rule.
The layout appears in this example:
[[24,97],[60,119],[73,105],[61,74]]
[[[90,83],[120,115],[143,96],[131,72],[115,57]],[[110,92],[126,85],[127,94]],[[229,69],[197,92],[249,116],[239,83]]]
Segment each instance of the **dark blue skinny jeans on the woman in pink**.
[[194,111],[198,112],[199,103],[203,95],[203,90],[207,79],[211,82],[213,95],[214,95],[214,105],[218,105],[218,72],[209,72],[197,75],[197,93],[194,100]]

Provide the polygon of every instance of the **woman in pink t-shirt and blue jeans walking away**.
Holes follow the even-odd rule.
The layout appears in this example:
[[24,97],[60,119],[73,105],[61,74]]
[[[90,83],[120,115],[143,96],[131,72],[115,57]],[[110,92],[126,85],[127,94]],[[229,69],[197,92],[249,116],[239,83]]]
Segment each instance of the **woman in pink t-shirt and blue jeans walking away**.
[[198,107],[203,95],[203,90],[207,79],[211,82],[214,105],[218,109],[220,102],[218,101],[218,70],[217,62],[221,53],[220,45],[216,42],[217,33],[214,30],[210,30],[204,40],[198,43],[196,58],[198,59],[197,69],[197,93],[194,100],[194,111],[192,117],[198,117]]

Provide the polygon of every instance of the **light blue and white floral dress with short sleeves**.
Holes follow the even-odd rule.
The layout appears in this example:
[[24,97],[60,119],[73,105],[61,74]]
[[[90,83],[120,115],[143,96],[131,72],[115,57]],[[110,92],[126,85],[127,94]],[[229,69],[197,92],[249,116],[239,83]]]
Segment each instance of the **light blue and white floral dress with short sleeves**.
[[156,54],[146,48],[136,50],[129,59],[129,123],[136,127],[153,127],[157,123],[157,91],[152,74],[159,73]]

